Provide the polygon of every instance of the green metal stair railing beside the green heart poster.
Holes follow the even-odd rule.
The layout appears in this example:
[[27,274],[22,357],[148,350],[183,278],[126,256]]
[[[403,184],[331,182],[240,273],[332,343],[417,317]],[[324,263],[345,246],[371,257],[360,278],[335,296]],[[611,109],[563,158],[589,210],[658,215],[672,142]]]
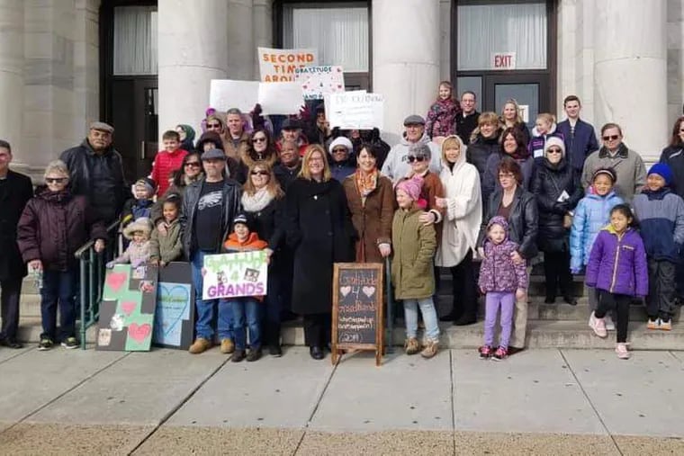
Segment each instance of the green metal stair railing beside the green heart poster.
[[121,251],[121,233],[119,221],[112,222],[107,227],[107,243],[101,253],[94,250],[94,241],[88,241],[76,250],[79,262],[78,308],[81,318],[81,348],[85,350],[85,333],[90,326],[97,323],[100,317],[100,302],[102,301],[104,284],[104,264],[112,260]]

